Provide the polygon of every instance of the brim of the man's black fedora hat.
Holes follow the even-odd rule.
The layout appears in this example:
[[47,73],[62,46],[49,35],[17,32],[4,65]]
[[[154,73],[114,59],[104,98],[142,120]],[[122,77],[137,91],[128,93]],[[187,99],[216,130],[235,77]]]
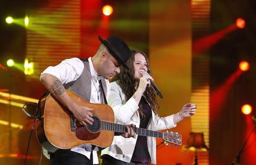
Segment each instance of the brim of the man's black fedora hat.
[[114,46],[109,43],[107,40],[103,40],[101,36],[98,36],[98,39],[101,41],[102,44],[106,46],[106,48],[109,50],[109,53],[126,69],[129,69],[129,67],[123,62],[119,57],[121,57],[121,54],[117,51],[117,49],[114,48]]

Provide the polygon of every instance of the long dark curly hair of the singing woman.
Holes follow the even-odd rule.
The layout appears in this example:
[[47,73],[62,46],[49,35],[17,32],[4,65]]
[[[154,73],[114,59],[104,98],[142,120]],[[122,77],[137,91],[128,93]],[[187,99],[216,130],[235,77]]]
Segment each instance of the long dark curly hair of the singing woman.
[[[134,78],[134,56],[137,53],[141,53],[147,62],[147,73],[151,74],[150,72],[150,65],[148,62],[148,58],[146,54],[139,50],[131,50],[131,57],[126,62],[126,65],[129,67],[129,69],[125,69],[123,66],[120,67],[120,73],[115,75],[115,77],[112,79],[112,81],[117,81],[119,86],[122,88],[123,93],[125,94],[126,101],[131,98],[131,96],[134,95],[135,91],[137,90],[137,87],[139,85],[139,80]],[[143,93],[144,98],[148,101],[152,111],[156,114],[156,110],[159,108],[159,104],[156,101],[156,95],[154,93],[154,90],[152,88],[147,87],[146,90]],[[143,115],[142,107],[139,106],[139,113]]]

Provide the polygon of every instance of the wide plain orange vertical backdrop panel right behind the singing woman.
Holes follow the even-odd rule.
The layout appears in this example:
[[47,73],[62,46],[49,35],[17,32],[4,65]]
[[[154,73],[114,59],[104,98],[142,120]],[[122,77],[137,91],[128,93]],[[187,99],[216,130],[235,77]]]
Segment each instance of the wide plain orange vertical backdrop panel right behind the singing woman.
[[[159,101],[159,115],[167,116],[191,100],[191,1],[150,1],[149,45],[152,74],[164,96]],[[184,145],[191,120],[185,119],[171,130],[182,134]],[[160,145],[157,149],[157,164],[192,162],[193,154],[182,151],[181,146]]]

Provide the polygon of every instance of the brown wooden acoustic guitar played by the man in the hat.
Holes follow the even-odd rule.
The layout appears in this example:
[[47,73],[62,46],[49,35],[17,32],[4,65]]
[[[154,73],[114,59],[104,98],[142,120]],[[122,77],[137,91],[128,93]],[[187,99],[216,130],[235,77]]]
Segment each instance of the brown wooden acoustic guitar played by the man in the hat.
[[[52,153],[57,149],[71,149],[82,144],[98,147],[111,145],[114,132],[125,133],[125,125],[114,123],[113,109],[107,104],[93,104],[68,91],[68,95],[80,106],[94,108],[93,124],[83,126],[50,95],[44,96],[39,103],[40,117],[36,120],[36,136],[42,147]],[[173,132],[156,132],[134,128],[138,136],[162,138],[166,142],[181,145],[182,137]]]

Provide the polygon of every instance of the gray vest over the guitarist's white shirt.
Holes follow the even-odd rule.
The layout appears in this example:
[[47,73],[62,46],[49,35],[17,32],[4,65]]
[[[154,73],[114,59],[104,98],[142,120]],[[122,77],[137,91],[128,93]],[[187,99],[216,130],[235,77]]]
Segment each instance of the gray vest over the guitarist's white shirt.
[[[75,92],[86,101],[90,101],[90,92],[92,90],[92,74],[90,73],[90,65],[88,59],[81,61],[84,63],[84,70],[82,70],[81,76],[76,81],[63,85],[65,89]],[[106,81],[103,77],[101,78],[101,82],[103,90],[106,93]],[[104,100],[104,98],[102,98],[102,100]]]

